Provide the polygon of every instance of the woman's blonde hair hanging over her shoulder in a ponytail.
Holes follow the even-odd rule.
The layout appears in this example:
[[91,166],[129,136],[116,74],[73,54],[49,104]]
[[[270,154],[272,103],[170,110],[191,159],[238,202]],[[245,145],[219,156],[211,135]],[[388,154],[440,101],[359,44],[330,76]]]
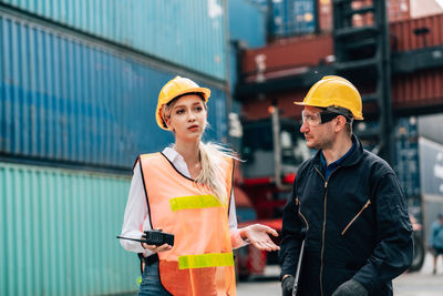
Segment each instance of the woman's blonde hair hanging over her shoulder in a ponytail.
[[[166,119],[171,118],[173,106],[177,102],[176,99],[162,108],[162,118],[165,122]],[[207,105],[204,100],[203,104],[205,110],[207,110]],[[205,129],[208,123],[206,122]],[[230,184],[226,184],[228,178],[224,175],[224,172],[226,172],[224,169],[229,165],[229,159],[231,159],[231,161],[238,160],[237,154],[233,150],[224,147],[219,144],[213,142],[204,143],[202,141],[199,143],[198,152],[202,170],[198,176],[195,178],[195,182],[209,187],[215,193],[216,198],[223,205],[227,204],[229,202],[230,192],[226,192],[226,188],[228,185],[230,187]]]

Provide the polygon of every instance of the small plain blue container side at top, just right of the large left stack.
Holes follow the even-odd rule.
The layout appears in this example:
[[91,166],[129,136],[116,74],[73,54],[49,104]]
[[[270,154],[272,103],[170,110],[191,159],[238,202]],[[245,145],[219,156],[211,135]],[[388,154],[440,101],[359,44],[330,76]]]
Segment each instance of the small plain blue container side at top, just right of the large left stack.
[[241,40],[247,48],[266,44],[266,12],[248,0],[228,1],[229,39]]

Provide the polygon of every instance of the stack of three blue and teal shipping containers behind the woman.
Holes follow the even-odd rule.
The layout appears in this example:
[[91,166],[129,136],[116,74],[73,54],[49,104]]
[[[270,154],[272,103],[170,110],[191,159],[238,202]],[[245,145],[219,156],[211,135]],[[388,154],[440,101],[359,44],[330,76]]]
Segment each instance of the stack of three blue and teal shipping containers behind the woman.
[[185,2],[0,2],[1,295],[137,289],[115,235],[136,155],[173,140],[162,85],[212,89],[207,139],[227,136],[225,8]]

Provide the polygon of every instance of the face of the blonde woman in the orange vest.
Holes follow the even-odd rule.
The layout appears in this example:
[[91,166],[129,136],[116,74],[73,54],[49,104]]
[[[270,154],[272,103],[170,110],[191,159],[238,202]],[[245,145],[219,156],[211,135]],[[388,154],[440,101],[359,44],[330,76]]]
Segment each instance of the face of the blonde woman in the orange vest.
[[206,119],[206,105],[202,98],[197,94],[186,94],[172,104],[171,115],[165,120],[176,137],[196,141],[205,131]]

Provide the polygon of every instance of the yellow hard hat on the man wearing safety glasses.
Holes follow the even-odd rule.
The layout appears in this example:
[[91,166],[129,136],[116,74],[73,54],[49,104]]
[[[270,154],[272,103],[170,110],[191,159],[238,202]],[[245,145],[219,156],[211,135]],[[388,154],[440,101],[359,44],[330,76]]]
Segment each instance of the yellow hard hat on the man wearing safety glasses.
[[351,82],[341,76],[323,76],[312,85],[302,102],[295,102],[295,104],[344,108],[352,113],[356,120],[363,120],[359,91]]

